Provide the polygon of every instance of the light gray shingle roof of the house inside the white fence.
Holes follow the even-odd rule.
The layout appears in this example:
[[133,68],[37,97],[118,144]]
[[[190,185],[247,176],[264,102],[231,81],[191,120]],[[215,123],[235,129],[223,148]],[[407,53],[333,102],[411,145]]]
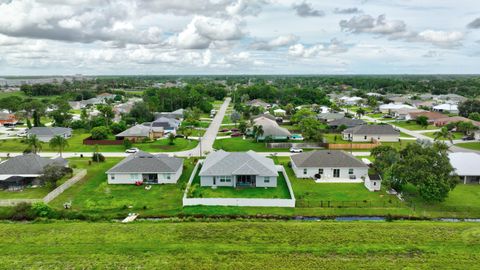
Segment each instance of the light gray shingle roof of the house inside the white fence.
[[258,175],[278,176],[273,160],[248,152],[225,152],[219,150],[207,156],[200,176]]

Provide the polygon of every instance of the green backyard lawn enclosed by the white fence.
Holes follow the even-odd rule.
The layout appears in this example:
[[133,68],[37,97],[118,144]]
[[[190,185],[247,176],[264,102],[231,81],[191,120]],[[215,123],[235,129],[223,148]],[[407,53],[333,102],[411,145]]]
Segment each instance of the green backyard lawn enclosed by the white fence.
[[233,188],[233,187],[211,187],[200,186],[200,176],[198,169],[192,186],[195,190],[194,197],[196,198],[265,198],[265,199],[290,199],[290,192],[288,192],[287,182],[283,174],[280,173],[277,178],[277,187],[275,188]]

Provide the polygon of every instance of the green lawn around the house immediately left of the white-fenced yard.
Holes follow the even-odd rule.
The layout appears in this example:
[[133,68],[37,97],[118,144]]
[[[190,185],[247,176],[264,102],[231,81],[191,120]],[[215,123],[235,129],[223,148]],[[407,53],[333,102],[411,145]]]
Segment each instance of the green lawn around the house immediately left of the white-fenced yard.
[[107,158],[105,163],[88,165],[87,159],[72,159],[71,164],[87,168],[88,175],[59,197],[51,205],[61,208],[65,202],[72,202],[72,210],[103,216],[124,216],[129,212],[142,215],[175,215],[182,209],[182,195],[193,166],[184,161],[184,170],[177,184],[144,186],[109,185],[105,171],[118,163],[121,158]]

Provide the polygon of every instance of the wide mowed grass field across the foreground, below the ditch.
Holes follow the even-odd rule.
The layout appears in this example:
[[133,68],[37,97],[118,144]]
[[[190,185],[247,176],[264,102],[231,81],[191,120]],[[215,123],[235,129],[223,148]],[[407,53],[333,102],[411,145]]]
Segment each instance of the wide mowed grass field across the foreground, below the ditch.
[[477,269],[480,224],[3,223],[5,269]]

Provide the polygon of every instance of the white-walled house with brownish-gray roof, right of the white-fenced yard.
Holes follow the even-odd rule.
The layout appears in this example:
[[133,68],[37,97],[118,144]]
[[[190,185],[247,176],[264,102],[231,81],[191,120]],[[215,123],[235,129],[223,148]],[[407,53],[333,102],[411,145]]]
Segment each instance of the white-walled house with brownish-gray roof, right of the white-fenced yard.
[[368,177],[368,166],[342,150],[316,150],[290,157],[297,178],[325,181],[362,181]]

